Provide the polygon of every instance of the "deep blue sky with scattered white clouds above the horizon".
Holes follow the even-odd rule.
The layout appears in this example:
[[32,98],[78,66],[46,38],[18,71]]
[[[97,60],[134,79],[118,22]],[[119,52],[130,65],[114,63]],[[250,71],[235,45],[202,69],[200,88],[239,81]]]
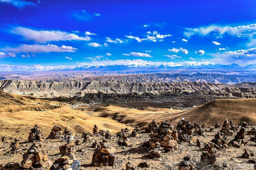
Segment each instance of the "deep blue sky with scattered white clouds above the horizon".
[[256,63],[255,0],[0,0],[0,71]]

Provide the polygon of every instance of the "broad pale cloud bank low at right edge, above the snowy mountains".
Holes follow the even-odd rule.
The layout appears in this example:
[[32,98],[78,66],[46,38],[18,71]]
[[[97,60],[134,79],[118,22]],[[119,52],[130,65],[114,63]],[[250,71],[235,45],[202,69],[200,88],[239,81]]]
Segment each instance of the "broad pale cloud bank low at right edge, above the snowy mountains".
[[225,51],[224,53],[210,54],[214,63],[222,64],[255,64],[256,63],[256,47],[248,50]]

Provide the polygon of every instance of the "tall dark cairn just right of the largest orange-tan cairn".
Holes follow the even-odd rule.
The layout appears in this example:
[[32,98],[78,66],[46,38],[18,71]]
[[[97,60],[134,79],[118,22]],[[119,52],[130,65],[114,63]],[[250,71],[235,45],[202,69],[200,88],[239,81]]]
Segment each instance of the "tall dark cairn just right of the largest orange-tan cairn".
[[182,118],[178,123],[177,123],[177,132],[178,132],[178,139],[183,142],[190,142],[192,139],[192,129],[193,125]]

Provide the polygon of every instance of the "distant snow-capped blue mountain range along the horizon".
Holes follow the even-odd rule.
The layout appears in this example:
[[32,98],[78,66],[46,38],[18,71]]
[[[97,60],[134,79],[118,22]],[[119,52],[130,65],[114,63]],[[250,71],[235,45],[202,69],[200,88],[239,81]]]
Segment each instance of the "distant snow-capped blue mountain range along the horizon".
[[[75,68],[60,68],[48,71],[91,71],[91,72],[117,72],[117,71],[151,71],[157,72],[166,70],[256,70],[256,64],[238,65],[233,63],[231,65],[208,64],[208,65],[182,65],[182,66],[165,66],[165,65],[107,65],[107,66],[82,66]],[[31,70],[37,71],[37,70]]]

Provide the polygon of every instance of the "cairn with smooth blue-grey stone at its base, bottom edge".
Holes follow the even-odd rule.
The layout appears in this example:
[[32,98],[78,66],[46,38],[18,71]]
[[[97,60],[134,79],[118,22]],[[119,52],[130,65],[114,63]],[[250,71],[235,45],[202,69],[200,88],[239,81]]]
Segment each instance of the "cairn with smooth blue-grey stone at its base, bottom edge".
[[59,149],[62,155],[59,159],[54,161],[50,170],[79,170],[81,163],[76,159],[73,153],[74,146],[74,142],[60,146]]

